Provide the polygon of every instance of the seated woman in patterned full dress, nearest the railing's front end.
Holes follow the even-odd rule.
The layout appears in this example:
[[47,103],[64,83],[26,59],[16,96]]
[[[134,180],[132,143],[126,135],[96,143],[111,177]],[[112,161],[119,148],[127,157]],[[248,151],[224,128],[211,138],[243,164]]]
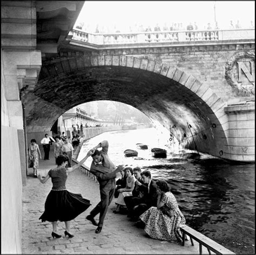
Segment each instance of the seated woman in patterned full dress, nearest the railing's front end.
[[170,191],[166,181],[158,180],[157,184],[157,207],[152,206],[149,210],[140,215],[145,223],[144,230],[153,239],[181,243],[182,236],[180,226],[186,220],[176,198]]

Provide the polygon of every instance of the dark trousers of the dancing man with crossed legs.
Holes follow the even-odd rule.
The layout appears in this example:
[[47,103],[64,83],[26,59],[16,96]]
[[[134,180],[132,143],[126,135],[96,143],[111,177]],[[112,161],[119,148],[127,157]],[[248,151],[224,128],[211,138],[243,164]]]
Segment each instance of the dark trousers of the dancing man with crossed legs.
[[109,180],[106,185],[100,185],[100,202],[90,212],[91,217],[95,217],[99,213],[98,226],[103,226],[104,218],[106,216],[107,208],[109,207],[113,197],[114,189],[116,187],[116,181],[114,179]]

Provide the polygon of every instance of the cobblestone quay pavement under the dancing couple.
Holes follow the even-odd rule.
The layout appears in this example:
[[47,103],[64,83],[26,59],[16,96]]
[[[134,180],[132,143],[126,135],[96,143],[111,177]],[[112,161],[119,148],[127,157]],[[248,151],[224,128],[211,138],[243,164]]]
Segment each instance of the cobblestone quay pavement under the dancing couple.
[[[52,159],[39,161],[41,173],[47,173],[52,167],[55,167]],[[144,230],[137,228],[135,223],[130,222],[126,215],[116,215],[112,212],[115,208],[114,201],[116,198],[113,199],[109,206],[102,232],[96,234],[96,226],[93,226],[85,217],[99,202],[99,185],[78,169],[69,175],[66,188],[70,192],[82,194],[84,198],[90,199],[92,205],[71,221],[70,232],[75,237],[64,237],[65,224],[64,222],[59,222],[57,233],[62,235],[62,237],[53,239],[51,237],[51,223],[42,223],[39,220],[44,211],[44,202],[51,187],[51,180],[42,184],[37,178],[29,176],[27,185],[23,187],[22,253],[199,254],[198,246],[191,246],[190,241],[187,241],[185,246],[181,246],[147,237]],[[98,215],[96,220],[98,220]]]

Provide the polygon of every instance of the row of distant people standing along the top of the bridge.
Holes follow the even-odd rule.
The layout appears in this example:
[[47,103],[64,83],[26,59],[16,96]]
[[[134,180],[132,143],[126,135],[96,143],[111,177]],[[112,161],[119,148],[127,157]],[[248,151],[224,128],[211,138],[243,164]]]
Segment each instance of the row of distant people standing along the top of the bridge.
[[[129,26],[126,29],[121,29],[118,27],[118,25],[114,25],[112,27],[109,26],[99,26],[99,24],[96,25],[96,27],[91,27],[89,24],[85,24],[83,22],[78,23],[75,26],[76,29],[83,30],[85,32],[91,32],[91,33],[138,33],[138,32],[169,32],[169,31],[190,31],[190,30],[220,30],[221,27],[219,27],[218,22],[215,22],[214,25],[212,25],[210,22],[204,25],[204,27],[198,27],[197,22],[190,22],[189,24],[186,24],[185,26],[181,22],[172,22],[172,23],[164,23],[163,25],[159,25],[158,23],[155,26],[150,25],[143,25],[138,23],[135,23],[133,26]],[[230,24],[225,27],[225,29],[242,29],[242,28],[253,28],[254,29],[254,22],[251,20],[250,25],[242,26],[240,24],[240,21],[237,20],[236,23],[233,22],[233,20],[230,20]]]

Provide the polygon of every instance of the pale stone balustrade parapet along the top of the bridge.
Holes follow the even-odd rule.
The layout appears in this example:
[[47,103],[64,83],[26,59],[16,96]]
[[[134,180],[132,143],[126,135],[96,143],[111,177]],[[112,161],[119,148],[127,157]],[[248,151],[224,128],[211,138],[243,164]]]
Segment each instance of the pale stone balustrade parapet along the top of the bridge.
[[254,29],[99,34],[72,29],[70,45],[91,50],[253,43]]

